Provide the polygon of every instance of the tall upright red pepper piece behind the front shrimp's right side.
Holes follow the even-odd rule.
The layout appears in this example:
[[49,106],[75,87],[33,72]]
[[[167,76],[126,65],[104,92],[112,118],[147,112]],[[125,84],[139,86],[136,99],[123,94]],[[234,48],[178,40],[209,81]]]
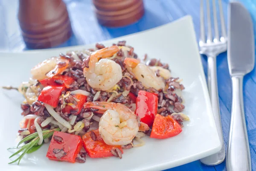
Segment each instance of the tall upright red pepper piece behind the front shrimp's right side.
[[136,101],[136,115],[140,121],[146,123],[149,127],[153,125],[157,114],[158,97],[153,93],[140,90]]

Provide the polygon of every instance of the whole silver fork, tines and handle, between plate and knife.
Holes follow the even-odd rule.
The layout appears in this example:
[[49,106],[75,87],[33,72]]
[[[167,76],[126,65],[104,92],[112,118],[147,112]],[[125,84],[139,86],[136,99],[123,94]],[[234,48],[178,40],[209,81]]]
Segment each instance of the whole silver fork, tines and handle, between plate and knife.
[[222,12],[221,0],[218,0],[220,21],[221,21],[221,37],[219,36],[218,23],[217,23],[217,12],[215,0],[212,0],[212,12],[213,12],[213,23],[214,23],[214,38],[212,39],[212,26],[211,26],[211,14],[209,7],[209,0],[206,0],[207,6],[207,39],[205,38],[204,32],[204,0],[201,0],[200,6],[200,53],[207,56],[208,62],[208,89],[212,103],[212,111],[215,119],[215,123],[218,130],[219,139],[222,147],[221,151],[211,156],[201,159],[201,162],[205,165],[218,165],[225,159],[225,146],[222,135],[220,108],[218,100],[218,86],[217,86],[217,72],[216,72],[216,56],[220,53],[227,51],[227,36],[224,23],[224,17]]

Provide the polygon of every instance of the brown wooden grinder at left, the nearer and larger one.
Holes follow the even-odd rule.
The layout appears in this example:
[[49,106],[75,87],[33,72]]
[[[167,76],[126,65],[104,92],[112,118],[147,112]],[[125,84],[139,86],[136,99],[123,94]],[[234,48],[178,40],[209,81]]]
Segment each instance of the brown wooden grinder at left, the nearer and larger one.
[[18,19],[28,48],[57,46],[72,34],[67,8],[62,0],[19,0]]

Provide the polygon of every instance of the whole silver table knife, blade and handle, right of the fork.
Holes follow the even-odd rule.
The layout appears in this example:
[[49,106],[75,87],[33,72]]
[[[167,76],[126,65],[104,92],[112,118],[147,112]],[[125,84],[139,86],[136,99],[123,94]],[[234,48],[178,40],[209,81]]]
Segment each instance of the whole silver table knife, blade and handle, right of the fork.
[[253,22],[238,2],[228,9],[227,60],[232,78],[232,111],[227,145],[227,171],[251,171],[250,148],[244,117],[243,78],[255,61]]

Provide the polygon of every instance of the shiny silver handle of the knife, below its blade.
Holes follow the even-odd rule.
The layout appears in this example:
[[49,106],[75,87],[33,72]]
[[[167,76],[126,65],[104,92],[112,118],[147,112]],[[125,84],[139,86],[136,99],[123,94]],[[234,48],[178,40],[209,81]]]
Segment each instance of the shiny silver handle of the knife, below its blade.
[[251,171],[250,148],[244,117],[243,75],[232,76],[232,111],[227,145],[227,171]]

